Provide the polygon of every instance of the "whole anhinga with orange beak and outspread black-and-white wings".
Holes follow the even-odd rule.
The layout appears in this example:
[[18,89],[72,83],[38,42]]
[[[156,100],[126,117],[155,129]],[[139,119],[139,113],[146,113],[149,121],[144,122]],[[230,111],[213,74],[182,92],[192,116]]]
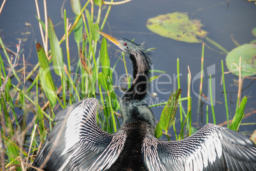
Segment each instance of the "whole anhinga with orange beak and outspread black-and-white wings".
[[[67,107],[34,160],[43,170],[256,170],[256,146],[238,132],[208,124],[183,140],[160,141],[144,102],[151,58],[143,44],[100,32],[131,59],[133,82],[120,100],[122,126],[111,134],[97,126],[96,99]],[[30,170],[34,170],[31,168]]]

